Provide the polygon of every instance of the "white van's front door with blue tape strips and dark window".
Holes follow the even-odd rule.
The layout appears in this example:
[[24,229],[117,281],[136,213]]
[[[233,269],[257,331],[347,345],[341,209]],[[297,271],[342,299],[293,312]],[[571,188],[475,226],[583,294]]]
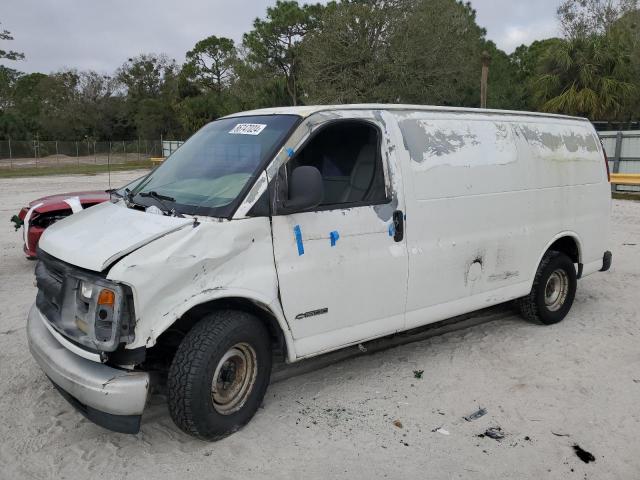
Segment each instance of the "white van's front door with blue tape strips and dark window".
[[315,166],[325,187],[314,211],[273,218],[281,301],[298,356],[404,327],[407,249],[402,226],[394,226],[404,197],[394,149],[371,117],[328,122],[281,172]]

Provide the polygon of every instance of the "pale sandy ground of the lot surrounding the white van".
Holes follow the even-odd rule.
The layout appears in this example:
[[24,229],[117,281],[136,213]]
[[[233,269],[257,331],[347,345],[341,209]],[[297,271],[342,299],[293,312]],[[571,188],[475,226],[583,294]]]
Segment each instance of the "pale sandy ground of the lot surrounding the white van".
[[[579,283],[563,323],[504,313],[288,378],[247,427],[209,444],[179,432],[161,397],[138,435],[101,429],[29,354],[34,263],[8,219],[37,196],[105,187],[106,176],[0,180],[0,478],[640,478],[640,202],[614,202],[614,266]],[[479,406],[487,415],[463,419]],[[493,426],[504,440],[477,437]]]

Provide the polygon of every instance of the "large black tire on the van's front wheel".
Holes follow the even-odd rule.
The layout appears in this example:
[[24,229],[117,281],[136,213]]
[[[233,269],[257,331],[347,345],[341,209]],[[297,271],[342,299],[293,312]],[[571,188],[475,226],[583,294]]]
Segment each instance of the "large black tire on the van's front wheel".
[[[243,373],[246,370],[255,372],[254,375],[240,374],[254,380],[249,381],[252,384],[248,387],[239,387],[245,393],[242,396],[244,400],[239,401],[235,407],[237,410],[221,413],[220,409],[223,406],[227,408],[228,405],[214,403],[213,377],[222,358],[229,355],[229,352],[239,351],[236,347],[242,352],[242,349],[246,349],[248,357],[255,360],[255,367],[252,369],[238,368]],[[236,357],[245,358],[241,355],[231,358]],[[234,363],[228,360],[221,368],[228,371],[229,362]],[[242,364],[242,361],[238,363]],[[231,368],[231,371],[231,377],[238,376],[235,369]],[[220,440],[251,420],[262,403],[270,376],[271,339],[264,324],[245,312],[216,312],[198,322],[178,347],[167,379],[169,413],[182,431],[203,440]],[[223,372],[217,377],[223,378]],[[235,379],[231,380],[232,386],[235,383]],[[248,390],[243,390],[244,388]]]

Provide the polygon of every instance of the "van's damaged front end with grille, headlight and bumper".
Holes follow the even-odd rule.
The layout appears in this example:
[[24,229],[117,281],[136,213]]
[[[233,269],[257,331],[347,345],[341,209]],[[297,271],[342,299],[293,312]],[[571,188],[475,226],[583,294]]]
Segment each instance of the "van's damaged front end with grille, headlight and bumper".
[[[136,433],[150,374],[131,364],[131,289],[38,250],[36,303],[29,312],[29,349],[53,385],[94,423]],[[128,364],[125,368],[122,365]]]

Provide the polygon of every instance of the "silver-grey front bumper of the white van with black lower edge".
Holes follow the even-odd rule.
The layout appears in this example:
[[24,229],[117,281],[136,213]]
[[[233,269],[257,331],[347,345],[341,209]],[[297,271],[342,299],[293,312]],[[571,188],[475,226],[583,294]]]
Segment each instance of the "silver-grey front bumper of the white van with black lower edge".
[[147,372],[120,370],[82,358],[49,332],[33,305],[27,323],[29,350],[55,387],[94,423],[122,433],[137,433],[149,393]]

